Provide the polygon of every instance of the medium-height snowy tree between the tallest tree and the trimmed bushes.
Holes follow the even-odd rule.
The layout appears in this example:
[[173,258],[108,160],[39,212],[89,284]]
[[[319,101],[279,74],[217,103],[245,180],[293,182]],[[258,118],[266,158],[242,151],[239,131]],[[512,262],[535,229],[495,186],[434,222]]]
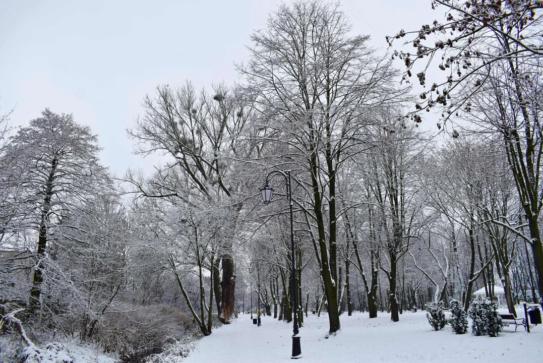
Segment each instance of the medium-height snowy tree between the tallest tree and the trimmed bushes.
[[380,268],[389,282],[390,314],[398,321],[398,264],[409,244],[424,225],[425,198],[420,164],[427,142],[413,125],[394,109],[376,114],[380,125],[374,128],[372,141],[376,150],[370,157],[374,174],[370,186],[377,208],[376,233],[383,236]]

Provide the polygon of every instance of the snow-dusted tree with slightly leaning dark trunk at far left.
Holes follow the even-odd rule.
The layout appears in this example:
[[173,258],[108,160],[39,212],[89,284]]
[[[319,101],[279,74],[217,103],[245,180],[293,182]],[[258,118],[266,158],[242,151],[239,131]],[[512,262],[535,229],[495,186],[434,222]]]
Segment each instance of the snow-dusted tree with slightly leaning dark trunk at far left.
[[37,234],[36,268],[30,291],[30,307],[35,309],[40,304],[52,226],[87,196],[98,195],[110,179],[98,160],[97,136],[88,126],[75,123],[72,114],[46,109],[10,141],[3,163],[22,165],[18,183],[24,196],[18,219]]

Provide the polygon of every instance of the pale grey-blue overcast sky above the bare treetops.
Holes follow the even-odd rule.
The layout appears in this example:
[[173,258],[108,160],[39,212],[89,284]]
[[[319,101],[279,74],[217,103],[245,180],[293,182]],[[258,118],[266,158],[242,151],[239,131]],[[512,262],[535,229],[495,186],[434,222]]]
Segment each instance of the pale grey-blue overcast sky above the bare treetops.
[[[144,95],[187,79],[197,88],[232,84],[250,34],[280,3],[0,0],[0,107],[15,107],[16,126],[45,107],[73,113],[98,133],[102,162],[118,176],[128,167],[149,170],[153,161],[131,155],[125,132],[142,113]],[[370,35],[383,52],[385,35],[443,18],[430,0],[341,3],[353,34]]]

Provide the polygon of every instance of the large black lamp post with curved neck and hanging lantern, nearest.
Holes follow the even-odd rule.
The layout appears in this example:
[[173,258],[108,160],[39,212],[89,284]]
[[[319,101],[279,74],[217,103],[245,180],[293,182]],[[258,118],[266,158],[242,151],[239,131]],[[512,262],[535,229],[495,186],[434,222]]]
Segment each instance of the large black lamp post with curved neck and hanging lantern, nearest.
[[292,257],[292,297],[293,297],[293,313],[294,313],[294,323],[293,323],[293,335],[292,335],[292,359],[299,359],[302,358],[302,349],[300,347],[300,335],[298,335],[298,298],[296,296],[296,292],[298,291],[298,287],[296,286],[296,268],[295,268],[295,262],[294,262],[294,225],[293,225],[293,217],[292,217],[292,184],[291,184],[291,170],[274,170],[271,171],[266,176],[266,184],[262,189],[260,189],[260,193],[262,194],[262,201],[264,204],[269,204],[271,202],[271,198],[273,198],[273,188],[271,188],[268,184],[268,181],[271,176],[274,174],[281,174],[285,177],[286,181],[286,187],[287,187],[287,199],[289,203],[289,208],[291,212],[291,257]]

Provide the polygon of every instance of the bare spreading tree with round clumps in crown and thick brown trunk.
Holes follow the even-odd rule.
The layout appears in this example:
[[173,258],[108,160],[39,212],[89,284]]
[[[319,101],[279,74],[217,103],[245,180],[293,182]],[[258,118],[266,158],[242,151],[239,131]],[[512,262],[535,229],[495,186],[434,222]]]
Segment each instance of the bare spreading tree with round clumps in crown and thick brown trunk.
[[[158,173],[148,183],[130,171],[127,180],[137,193],[148,198],[183,200],[182,190],[186,189],[184,185],[188,181],[191,191],[201,194],[209,202],[230,200],[225,210],[233,217],[230,219],[232,234],[229,241],[225,241],[230,247],[222,249],[222,291],[215,292],[221,295],[221,319],[228,323],[235,307],[233,241],[242,208],[236,193],[244,183],[236,174],[236,168],[239,161],[251,153],[251,148],[247,148],[240,137],[251,110],[239,101],[235,90],[217,85],[213,92],[210,95],[202,91],[198,95],[187,82],[175,90],[159,86],[155,98],[147,96],[144,99],[144,115],[136,120],[135,128],[128,134],[137,141],[138,154],[145,156],[158,152],[167,155],[168,159],[163,166],[156,167]],[[178,177],[176,173],[179,173]],[[218,279],[218,272],[217,262],[213,269],[215,279]]]

